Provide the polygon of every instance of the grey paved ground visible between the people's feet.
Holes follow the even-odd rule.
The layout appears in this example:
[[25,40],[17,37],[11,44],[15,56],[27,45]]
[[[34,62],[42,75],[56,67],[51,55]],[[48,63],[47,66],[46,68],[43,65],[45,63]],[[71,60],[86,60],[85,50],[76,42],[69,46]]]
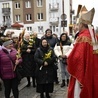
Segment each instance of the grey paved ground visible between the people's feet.
[[[19,85],[19,98],[40,98],[39,93],[36,93],[36,88],[25,87],[27,84],[26,79],[24,78]],[[60,84],[55,84],[54,92],[51,94],[51,98],[67,98],[67,87],[60,87]],[[4,98],[4,88],[0,91],[0,98]],[[11,98],[14,98],[11,94]]]

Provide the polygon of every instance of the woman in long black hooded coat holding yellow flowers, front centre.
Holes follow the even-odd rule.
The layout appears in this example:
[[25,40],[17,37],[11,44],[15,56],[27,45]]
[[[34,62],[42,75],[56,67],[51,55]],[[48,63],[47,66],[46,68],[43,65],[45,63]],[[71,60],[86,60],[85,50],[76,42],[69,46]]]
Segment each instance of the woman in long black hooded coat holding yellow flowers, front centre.
[[41,40],[41,45],[36,50],[34,59],[37,63],[37,92],[40,93],[40,98],[44,98],[44,92],[46,98],[50,98],[49,93],[53,92],[54,87],[55,54],[45,38]]

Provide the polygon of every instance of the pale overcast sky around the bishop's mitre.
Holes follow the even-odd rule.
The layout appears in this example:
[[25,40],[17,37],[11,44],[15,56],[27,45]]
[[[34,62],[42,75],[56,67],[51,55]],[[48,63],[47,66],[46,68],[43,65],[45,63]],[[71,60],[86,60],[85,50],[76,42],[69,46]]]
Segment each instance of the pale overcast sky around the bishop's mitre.
[[95,8],[95,15],[93,19],[93,25],[98,26],[98,0],[73,0],[73,9],[75,10],[75,15],[77,13],[78,5],[85,5],[87,10]]

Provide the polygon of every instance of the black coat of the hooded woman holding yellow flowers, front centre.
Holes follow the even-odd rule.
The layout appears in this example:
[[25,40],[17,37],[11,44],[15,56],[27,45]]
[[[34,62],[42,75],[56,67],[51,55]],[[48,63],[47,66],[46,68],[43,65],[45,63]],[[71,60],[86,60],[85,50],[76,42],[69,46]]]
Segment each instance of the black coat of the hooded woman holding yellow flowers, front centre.
[[56,59],[56,56],[54,54],[54,51],[52,48],[49,47],[48,51],[52,51],[51,59],[48,59],[48,66],[43,66],[44,60],[43,57],[45,55],[45,51],[43,51],[40,48],[38,48],[35,52],[34,59],[37,63],[37,69],[36,69],[36,82],[38,84],[48,84],[54,82],[54,62]]

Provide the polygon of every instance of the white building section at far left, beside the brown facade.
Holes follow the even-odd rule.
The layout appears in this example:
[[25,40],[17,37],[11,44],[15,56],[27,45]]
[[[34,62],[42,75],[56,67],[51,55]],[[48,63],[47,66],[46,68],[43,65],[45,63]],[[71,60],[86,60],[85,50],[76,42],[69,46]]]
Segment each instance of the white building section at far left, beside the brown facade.
[[0,26],[10,27],[13,20],[12,1],[0,0]]

